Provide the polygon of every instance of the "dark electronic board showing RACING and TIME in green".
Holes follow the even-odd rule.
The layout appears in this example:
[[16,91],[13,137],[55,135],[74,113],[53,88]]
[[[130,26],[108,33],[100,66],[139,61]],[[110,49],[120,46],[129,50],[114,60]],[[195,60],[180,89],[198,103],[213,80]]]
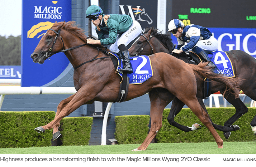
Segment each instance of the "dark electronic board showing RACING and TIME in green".
[[255,0],[172,0],[172,19],[212,28],[255,28]]

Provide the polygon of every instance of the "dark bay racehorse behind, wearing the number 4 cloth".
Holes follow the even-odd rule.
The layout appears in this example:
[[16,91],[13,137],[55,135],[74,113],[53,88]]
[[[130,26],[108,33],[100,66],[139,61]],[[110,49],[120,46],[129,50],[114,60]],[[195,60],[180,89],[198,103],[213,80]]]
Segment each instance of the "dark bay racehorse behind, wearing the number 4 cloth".
[[[174,49],[174,44],[172,43],[169,35],[163,34],[161,31],[155,28],[148,28],[145,30],[144,34],[142,34],[137,41],[133,43],[131,48],[129,48],[130,55],[150,55],[159,52],[172,53]],[[231,50],[226,52],[233,64],[234,74],[236,77],[241,78],[242,81],[239,83],[240,89],[245,93],[248,97],[253,100],[256,100],[256,60],[251,55],[245,53],[241,50]],[[185,53],[175,54],[172,53],[173,56],[178,59],[183,60],[186,63],[192,63],[188,56]],[[195,63],[194,63],[195,64]],[[223,94],[225,89],[225,85],[215,82],[212,82],[212,93],[220,91]],[[205,105],[203,103],[204,98],[204,87],[202,83],[198,83],[198,92],[197,98],[201,106],[207,112]],[[240,98],[235,98],[234,95],[226,93],[224,97],[227,99],[229,103],[231,103],[236,108],[236,113],[229,118],[224,126],[219,126],[217,124],[213,124],[215,129],[223,131],[224,136],[228,138],[230,136],[230,131],[235,131],[240,129],[238,126],[232,124],[240,118],[243,114],[247,113],[248,108],[241,101]],[[181,102],[179,99],[175,98],[172,101],[172,107],[168,116],[168,121],[172,126],[175,126],[182,131],[189,132],[192,131],[192,127],[182,126],[181,124],[174,121],[174,117],[180,112],[182,107],[185,104]],[[194,124],[195,125],[195,124]],[[256,134],[256,116],[251,121],[251,127],[253,133]],[[195,130],[195,128],[193,129]]]

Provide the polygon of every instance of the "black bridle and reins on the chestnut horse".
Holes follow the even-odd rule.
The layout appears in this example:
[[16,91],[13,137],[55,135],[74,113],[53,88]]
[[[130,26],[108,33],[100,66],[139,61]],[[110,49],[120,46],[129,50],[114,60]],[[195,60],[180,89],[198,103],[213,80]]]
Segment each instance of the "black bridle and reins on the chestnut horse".
[[[80,48],[80,47],[82,47],[82,46],[87,45],[87,44],[82,44],[82,45],[79,45],[79,46],[74,46],[74,47],[72,47],[72,48],[63,49],[63,50],[60,50],[60,51],[57,51],[57,52],[50,52],[50,51],[52,51],[53,45],[56,43],[56,40],[58,39],[58,37],[60,37],[60,39],[62,40],[62,44],[63,44],[63,47],[62,47],[62,48],[64,48],[64,41],[63,41],[62,37],[60,36],[60,31],[61,31],[61,29],[59,29],[58,32],[56,32],[55,30],[53,30],[53,29],[51,29],[51,28],[48,29],[48,30],[52,30],[52,31],[56,34],[56,37],[55,37],[55,39],[54,39],[54,41],[53,41],[53,44],[52,44],[52,47],[49,49],[49,51],[46,52],[45,55],[43,55],[43,56],[47,57],[48,60],[51,60],[51,59],[49,58],[49,56],[50,56],[51,54],[56,54],[56,53],[60,53],[60,52],[65,53],[67,50],[72,50],[72,49]],[[48,31],[48,30],[47,30],[47,31]],[[93,46],[94,46],[94,45],[93,45]],[[95,47],[96,49],[98,49],[99,52],[100,52],[100,50],[103,51],[105,54],[107,54],[107,52],[108,52],[108,51],[102,50],[102,49],[100,49],[100,48],[98,48],[98,47],[96,47],[96,46],[94,46],[94,47]],[[48,54],[48,55],[47,55],[47,54]],[[86,61],[86,62],[84,62],[84,63],[78,65],[77,67],[74,67],[74,69],[77,69],[77,68],[81,67],[82,65],[84,65],[84,64],[86,64],[86,63],[89,63],[89,62],[92,62],[92,61],[97,60],[97,59],[110,58],[110,57],[96,58],[96,57],[98,57],[98,55],[99,55],[99,53],[98,53],[93,59],[88,60],[88,61]]]

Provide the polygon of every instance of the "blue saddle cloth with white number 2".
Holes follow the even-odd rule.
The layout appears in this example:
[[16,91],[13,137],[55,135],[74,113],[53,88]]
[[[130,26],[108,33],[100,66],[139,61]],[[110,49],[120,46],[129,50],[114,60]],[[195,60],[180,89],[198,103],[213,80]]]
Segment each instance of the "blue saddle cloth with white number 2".
[[[110,52],[110,54],[114,55],[118,60],[118,65],[116,68],[116,73],[120,75],[121,78],[123,78],[123,74],[119,73],[119,69],[123,68],[123,62],[120,61],[119,56],[113,52]],[[146,55],[141,55],[137,57],[130,58],[130,62],[132,65],[133,73],[127,74],[127,76],[130,78],[129,85],[132,84],[142,84],[149,78],[153,76],[153,70],[151,65],[150,57]],[[122,81],[121,81],[122,82]]]

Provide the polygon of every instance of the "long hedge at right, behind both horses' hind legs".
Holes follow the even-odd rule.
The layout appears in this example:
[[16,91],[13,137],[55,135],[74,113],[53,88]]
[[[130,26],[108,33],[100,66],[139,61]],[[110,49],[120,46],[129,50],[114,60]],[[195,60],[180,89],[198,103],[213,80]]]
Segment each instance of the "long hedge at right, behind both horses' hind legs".
[[[231,132],[229,139],[226,139],[222,131],[218,131],[219,136],[223,141],[230,142],[243,142],[243,141],[256,141],[256,137],[253,134],[250,126],[250,122],[256,114],[256,108],[248,108],[248,112],[239,118],[234,124],[238,125],[241,129]],[[223,125],[235,112],[233,107],[223,108],[207,108],[210,118],[213,123]],[[167,121],[170,109],[163,111],[163,124],[160,131],[157,133],[157,143],[179,143],[179,142],[214,142],[214,138],[207,127],[199,120],[198,117],[189,109],[184,108],[175,117],[175,121],[191,127],[194,123],[199,123],[202,128],[196,131],[183,132],[180,129],[171,126]]]

